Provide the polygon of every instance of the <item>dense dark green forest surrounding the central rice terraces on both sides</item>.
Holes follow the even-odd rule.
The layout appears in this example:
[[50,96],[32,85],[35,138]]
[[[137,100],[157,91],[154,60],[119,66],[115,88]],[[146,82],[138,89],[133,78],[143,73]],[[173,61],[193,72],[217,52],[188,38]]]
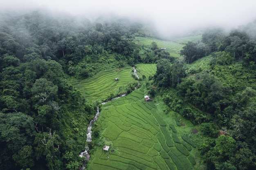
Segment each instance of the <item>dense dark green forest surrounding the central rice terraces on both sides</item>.
[[256,22],[229,33],[207,29],[175,58],[154,42],[135,44],[148,30],[128,18],[0,15],[0,169],[76,170],[99,103],[88,102],[68,77],[137,63],[157,64],[146,82],[152,97],[200,124],[205,169],[256,168]]

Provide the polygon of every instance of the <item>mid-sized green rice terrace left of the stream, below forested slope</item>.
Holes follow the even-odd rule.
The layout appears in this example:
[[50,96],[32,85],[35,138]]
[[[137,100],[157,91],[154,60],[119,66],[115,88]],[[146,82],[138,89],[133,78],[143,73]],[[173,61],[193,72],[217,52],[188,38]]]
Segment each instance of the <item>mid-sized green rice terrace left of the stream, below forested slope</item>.
[[[119,87],[129,82],[136,82],[130,75],[131,69],[115,69],[102,71],[99,74],[84,80],[73,80],[71,83],[79,89],[82,95],[90,102],[97,99],[107,99],[111,93],[115,93]],[[119,81],[115,81],[115,78]]]

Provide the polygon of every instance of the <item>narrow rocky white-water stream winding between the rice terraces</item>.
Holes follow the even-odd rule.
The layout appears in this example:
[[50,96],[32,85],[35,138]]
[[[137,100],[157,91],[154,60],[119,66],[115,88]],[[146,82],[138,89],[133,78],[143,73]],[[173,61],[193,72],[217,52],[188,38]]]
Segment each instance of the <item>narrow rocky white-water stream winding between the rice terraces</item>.
[[[138,74],[137,74],[137,70],[135,69],[135,67],[133,67],[133,73],[134,73],[134,75],[139,79],[139,76],[138,76]],[[138,84],[138,85],[139,85],[139,84]],[[135,88],[135,90],[136,90],[136,88]],[[108,103],[108,102],[110,102],[110,101],[112,101],[112,100],[119,99],[120,97],[124,97],[124,96],[126,96],[126,95],[127,95],[127,94],[121,95],[121,96],[119,96],[119,97],[114,97],[113,99],[108,100],[107,102],[103,102],[103,103],[101,103],[101,104],[106,104],[106,103]],[[99,117],[99,105],[97,106],[97,112],[96,112],[96,114],[94,115],[94,117],[93,117],[93,119],[90,121],[90,123],[88,124],[87,132],[86,132],[86,135],[87,135],[86,141],[87,141],[87,142],[92,142],[92,125],[94,124],[95,121],[97,121],[98,117]],[[81,152],[81,153],[79,154],[79,157],[85,157],[85,158],[86,158],[86,161],[90,160],[90,154],[88,153],[89,149],[90,149],[90,148],[89,148],[88,146],[85,146],[85,151]],[[84,170],[84,169],[85,169],[85,165],[86,165],[86,162],[85,162],[85,164],[84,164],[83,166],[80,167],[80,169],[81,169],[81,170]]]

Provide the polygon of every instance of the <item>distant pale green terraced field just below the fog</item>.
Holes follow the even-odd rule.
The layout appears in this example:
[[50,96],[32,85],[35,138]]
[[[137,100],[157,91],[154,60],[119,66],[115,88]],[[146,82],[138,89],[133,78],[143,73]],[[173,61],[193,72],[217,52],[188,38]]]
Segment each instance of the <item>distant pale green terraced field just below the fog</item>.
[[155,38],[150,37],[136,37],[135,43],[137,44],[144,44],[150,46],[152,42],[156,42],[158,48],[166,48],[166,51],[170,53],[173,57],[179,57],[179,51],[182,50],[182,47],[185,45],[186,42],[192,41],[196,42],[202,38],[202,35],[195,35],[183,38],[177,38],[173,41],[163,41],[157,40]]

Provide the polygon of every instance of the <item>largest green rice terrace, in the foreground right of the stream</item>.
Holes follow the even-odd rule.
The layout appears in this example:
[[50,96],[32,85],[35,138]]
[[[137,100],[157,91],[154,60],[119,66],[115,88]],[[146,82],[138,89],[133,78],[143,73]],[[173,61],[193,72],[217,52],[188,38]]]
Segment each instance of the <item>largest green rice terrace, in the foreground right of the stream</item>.
[[[101,107],[97,121],[109,151],[99,148],[90,170],[192,170],[195,144],[161,104],[145,102],[144,85]],[[157,105],[157,106],[156,106]],[[189,130],[188,130],[189,129]]]

